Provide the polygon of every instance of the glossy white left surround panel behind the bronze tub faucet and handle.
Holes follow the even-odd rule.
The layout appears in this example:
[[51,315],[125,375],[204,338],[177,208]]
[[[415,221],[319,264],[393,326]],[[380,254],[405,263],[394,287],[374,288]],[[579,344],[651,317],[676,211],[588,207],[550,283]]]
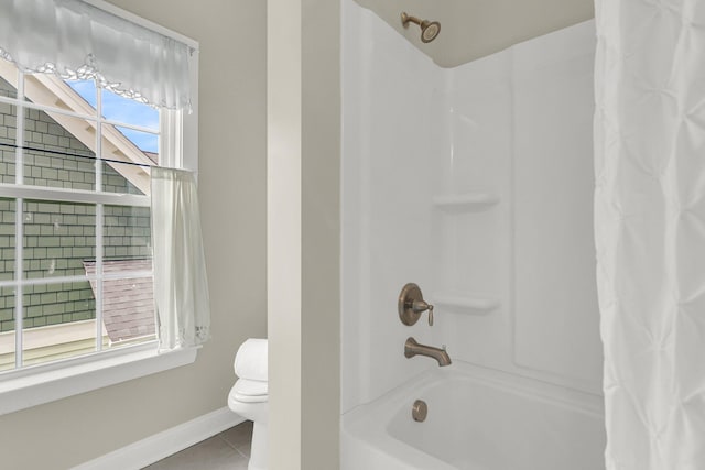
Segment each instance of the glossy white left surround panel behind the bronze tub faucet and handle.
[[[405,283],[424,289],[433,278],[427,248],[431,198],[444,163],[446,74],[370,11],[351,0],[343,7],[341,407],[347,411],[427,367],[403,357],[409,331],[395,300]],[[431,341],[430,330],[414,332],[420,342]]]

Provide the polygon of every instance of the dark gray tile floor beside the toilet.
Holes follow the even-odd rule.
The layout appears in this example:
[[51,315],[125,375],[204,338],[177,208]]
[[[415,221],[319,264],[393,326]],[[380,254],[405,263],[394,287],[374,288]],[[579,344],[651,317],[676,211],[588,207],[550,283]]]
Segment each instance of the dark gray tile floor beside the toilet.
[[251,440],[252,422],[245,422],[143,470],[247,470]]

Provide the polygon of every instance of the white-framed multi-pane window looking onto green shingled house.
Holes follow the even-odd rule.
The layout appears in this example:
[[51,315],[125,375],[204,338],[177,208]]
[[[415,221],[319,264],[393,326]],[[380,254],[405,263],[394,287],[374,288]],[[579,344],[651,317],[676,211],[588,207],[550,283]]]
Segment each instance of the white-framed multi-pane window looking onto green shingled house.
[[[145,24],[148,32],[158,30],[160,40],[173,34],[98,1],[67,0],[61,7],[53,0],[31,1],[41,7],[35,11],[66,7],[69,13],[89,14],[100,28],[121,21],[116,30],[123,35]],[[14,13],[23,14],[2,12],[0,23]],[[85,40],[80,31],[66,32],[52,21],[58,20],[37,23],[28,43],[36,31],[52,28],[62,37]],[[18,67],[1,58],[13,54],[3,48],[12,42],[2,36],[3,28],[11,26],[0,24],[0,395],[19,390],[7,385],[15,376],[99,364],[100,358],[113,360],[122,352],[139,351],[145,358],[143,351],[156,350],[151,168],[197,165],[197,114],[183,107],[191,100],[195,109],[195,95],[174,92],[172,98],[166,92],[151,100],[133,91],[141,88],[120,88],[123,76],[132,78],[120,75],[132,64],[108,64],[108,70],[120,75],[115,80],[90,67],[93,54],[86,58],[87,69],[48,63],[51,67],[42,69],[46,73],[26,64]],[[135,35],[140,40],[141,30]],[[22,31],[8,34],[22,36]],[[122,47],[121,41],[111,46]],[[195,43],[187,41],[185,80],[195,92],[197,54]],[[140,58],[139,47],[122,55],[144,67],[150,58]],[[40,64],[44,67],[44,58]],[[22,72],[26,68],[35,72]],[[144,80],[140,74],[134,77]],[[181,362],[170,363],[164,367]],[[94,381],[76,392],[97,386]],[[20,407],[3,406],[0,414]]]

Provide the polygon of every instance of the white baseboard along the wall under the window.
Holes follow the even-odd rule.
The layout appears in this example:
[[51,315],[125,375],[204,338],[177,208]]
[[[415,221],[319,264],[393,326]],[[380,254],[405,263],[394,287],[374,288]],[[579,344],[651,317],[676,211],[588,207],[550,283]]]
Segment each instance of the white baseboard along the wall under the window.
[[140,470],[243,420],[226,406],[82,463],[73,470]]

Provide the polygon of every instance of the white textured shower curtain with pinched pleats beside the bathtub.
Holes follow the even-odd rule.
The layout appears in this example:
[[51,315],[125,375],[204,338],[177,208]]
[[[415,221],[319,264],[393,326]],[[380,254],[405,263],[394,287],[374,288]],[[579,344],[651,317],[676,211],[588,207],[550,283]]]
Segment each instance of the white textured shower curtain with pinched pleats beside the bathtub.
[[705,469],[705,1],[596,0],[608,470]]

